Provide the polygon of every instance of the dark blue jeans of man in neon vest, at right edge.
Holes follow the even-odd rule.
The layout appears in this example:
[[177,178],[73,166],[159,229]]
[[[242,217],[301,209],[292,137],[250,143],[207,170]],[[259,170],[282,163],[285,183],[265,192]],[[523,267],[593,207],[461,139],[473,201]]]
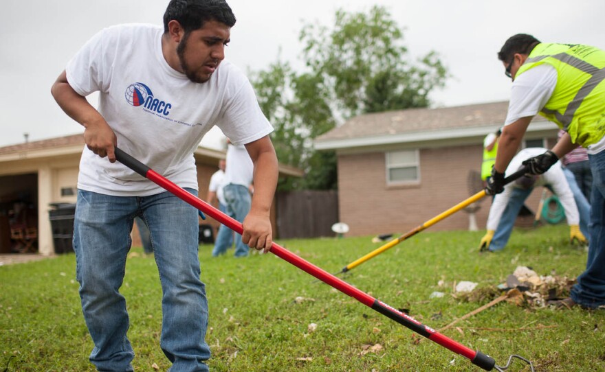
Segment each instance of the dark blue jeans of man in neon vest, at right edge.
[[586,270],[571,288],[571,299],[585,307],[605,305],[605,151],[588,155],[593,172],[591,238]]

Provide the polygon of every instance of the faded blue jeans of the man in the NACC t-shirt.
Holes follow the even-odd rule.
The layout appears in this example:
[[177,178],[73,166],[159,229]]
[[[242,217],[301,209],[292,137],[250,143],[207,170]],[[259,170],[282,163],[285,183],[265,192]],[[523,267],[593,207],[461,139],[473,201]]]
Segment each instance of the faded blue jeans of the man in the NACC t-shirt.
[[82,310],[94,342],[90,360],[100,371],[133,371],[120,287],[135,216],[149,228],[162,285],[160,347],[173,371],[208,371],[208,301],[199,279],[197,210],[168,192],[120,197],[78,190],[74,251]]

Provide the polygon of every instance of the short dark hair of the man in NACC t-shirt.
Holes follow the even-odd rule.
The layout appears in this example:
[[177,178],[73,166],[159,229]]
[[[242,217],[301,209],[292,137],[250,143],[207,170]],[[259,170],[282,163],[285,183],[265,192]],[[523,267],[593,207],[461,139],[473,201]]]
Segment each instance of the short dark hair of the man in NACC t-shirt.
[[235,16],[225,0],[170,0],[164,12],[164,34],[172,20],[178,21],[186,33],[199,30],[207,21],[235,25]]

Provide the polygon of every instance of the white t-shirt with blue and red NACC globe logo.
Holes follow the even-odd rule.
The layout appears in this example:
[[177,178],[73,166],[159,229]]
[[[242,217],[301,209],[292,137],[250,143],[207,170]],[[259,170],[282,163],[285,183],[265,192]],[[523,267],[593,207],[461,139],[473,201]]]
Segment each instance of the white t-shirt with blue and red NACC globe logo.
[[[216,125],[233,143],[272,132],[248,78],[227,60],[203,84],[168,65],[161,26],[127,24],[93,36],[69,61],[67,81],[80,95],[100,92],[98,110],[118,147],[180,187],[197,189],[193,152]],[[78,188],[113,196],[164,191],[119,162],[84,148]]]

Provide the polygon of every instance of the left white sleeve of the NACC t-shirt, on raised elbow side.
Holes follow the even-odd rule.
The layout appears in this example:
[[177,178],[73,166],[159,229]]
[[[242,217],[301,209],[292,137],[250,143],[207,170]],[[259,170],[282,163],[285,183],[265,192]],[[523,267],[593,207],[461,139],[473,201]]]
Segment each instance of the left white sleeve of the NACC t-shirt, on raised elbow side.
[[111,43],[106,41],[110,34],[107,30],[101,30],[94,35],[72,60],[67,62],[67,82],[79,95],[109,91],[110,81],[106,67],[111,68],[111,61],[108,60],[111,53],[104,46]]

